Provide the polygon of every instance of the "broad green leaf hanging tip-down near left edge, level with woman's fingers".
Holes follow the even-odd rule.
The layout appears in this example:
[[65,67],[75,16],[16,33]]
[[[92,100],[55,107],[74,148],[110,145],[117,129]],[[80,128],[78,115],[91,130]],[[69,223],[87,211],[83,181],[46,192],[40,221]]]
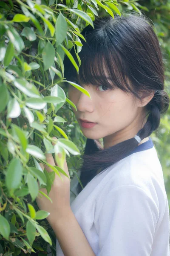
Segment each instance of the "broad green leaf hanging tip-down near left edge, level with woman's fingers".
[[20,186],[23,175],[23,167],[19,159],[14,158],[9,164],[6,172],[6,186],[8,191],[17,189]]

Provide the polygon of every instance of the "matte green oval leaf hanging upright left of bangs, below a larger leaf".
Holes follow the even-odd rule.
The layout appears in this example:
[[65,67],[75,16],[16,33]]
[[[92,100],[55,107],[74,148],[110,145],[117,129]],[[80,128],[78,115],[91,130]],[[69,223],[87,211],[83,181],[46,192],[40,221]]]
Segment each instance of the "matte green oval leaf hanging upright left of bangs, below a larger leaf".
[[42,59],[44,62],[44,71],[48,70],[53,63],[55,57],[55,49],[54,46],[48,41],[45,45],[44,49],[42,50]]

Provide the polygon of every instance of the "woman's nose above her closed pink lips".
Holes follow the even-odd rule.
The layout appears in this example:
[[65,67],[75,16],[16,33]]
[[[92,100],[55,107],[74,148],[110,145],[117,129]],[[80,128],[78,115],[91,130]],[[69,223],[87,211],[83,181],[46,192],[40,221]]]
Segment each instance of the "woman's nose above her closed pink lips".
[[[91,96],[91,98],[92,98],[92,96]],[[79,99],[78,99],[77,105],[76,105],[77,111],[93,112],[94,111],[94,102],[91,98],[88,97],[87,95],[85,95],[85,93],[80,93],[80,96],[79,96]]]

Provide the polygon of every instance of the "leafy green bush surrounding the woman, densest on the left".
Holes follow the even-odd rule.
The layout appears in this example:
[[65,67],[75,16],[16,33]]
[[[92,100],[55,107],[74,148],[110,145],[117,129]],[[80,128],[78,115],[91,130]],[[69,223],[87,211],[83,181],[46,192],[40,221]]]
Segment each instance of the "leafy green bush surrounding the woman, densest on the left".
[[[59,175],[62,170],[53,166],[53,172],[43,172],[39,163],[46,163],[44,153],[64,150],[71,178],[79,170],[85,137],[71,109],[76,106],[68,99],[63,60],[67,55],[78,72],[82,29],[88,24],[93,26],[95,16],[114,17],[132,9],[145,11],[156,25],[166,64],[170,64],[170,6],[160,5],[159,1],[141,2],[0,2],[0,255],[41,256],[49,250],[56,254],[56,238],[45,220],[48,213],[38,210],[35,198],[40,188],[37,181],[49,193],[54,174]],[[155,8],[158,9],[156,19]],[[69,52],[72,47],[79,66]],[[169,86],[168,70],[166,75]],[[84,90],[84,93],[88,92]],[[168,113],[161,120],[157,134],[152,135],[166,180],[170,164]],[[53,136],[59,139],[55,147],[51,144]]]

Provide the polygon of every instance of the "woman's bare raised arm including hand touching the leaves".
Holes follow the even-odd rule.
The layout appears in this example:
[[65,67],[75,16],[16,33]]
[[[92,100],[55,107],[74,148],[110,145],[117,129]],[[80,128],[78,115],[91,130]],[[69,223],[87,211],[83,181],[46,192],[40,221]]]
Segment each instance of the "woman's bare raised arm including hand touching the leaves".
[[[52,154],[46,154],[46,159],[52,166],[57,166]],[[41,163],[40,165],[44,169]],[[48,166],[45,166],[45,169],[48,172],[52,171]],[[64,171],[70,177],[66,160]],[[50,212],[47,220],[54,230],[65,256],[95,256],[70,207],[70,180],[62,173],[60,175],[63,181],[56,175],[48,195],[53,203],[39,195],[36,199],[37,204],[41,210]],[[46,189],[40,190],[47,194]]]

